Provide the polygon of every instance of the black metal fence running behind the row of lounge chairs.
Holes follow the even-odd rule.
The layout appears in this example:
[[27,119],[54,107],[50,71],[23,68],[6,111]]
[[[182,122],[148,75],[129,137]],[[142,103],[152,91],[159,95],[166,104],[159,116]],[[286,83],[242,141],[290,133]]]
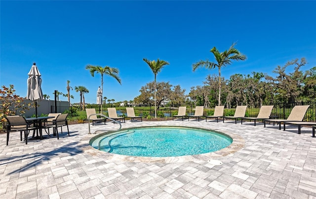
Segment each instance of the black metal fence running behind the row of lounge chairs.
[[[296,102],[296,103],[276,103],[276,104],[267,104],[274,105],[271,115],[276,116],[279,119],[286,119],[291,113],[295,105],[310,105],[308,108],[304,120],[307,122],[316,122],[316,102]],[[184,105],[185,106],[185,105]],[[119,116],[126,116],[126,107],[125,106],[110,106],[115,107]],[[172,117],[178,113],[179,106],[158,106],[157,108],[157,117],[165,118]],[[204,115],[212,115],[214,112],[215,104],[212,105],[213,108],[204,108]],[[95,108],[96,113],[101,113],[100,105],[86,105],[86,108]],[[107,107],[103,107],[103,114],[107,115]],[[55,111],[56,109],[56,111]],[[246,117],[256,117],[259,113],[260,105],[249,106],[247,107]],[[134,106],[135,115],[142,116],[144,118],[153,118],[155,117],[155,108],[154,106]],[[86,112],[82,107],[79,106],[51,106],[51,112],[57,113],[69,113],[69,120],[85,120],[87,119]],[[187,105],[187,114],[194,115],[195,106]],[[225,108],[225,116],[233,116],[235,113],[235,108]]]

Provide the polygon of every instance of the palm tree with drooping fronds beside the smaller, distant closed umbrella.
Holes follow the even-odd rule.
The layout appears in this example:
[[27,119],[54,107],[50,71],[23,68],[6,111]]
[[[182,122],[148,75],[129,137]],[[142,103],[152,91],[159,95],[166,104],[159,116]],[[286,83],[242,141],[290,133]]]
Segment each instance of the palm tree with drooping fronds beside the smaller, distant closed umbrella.
[[[118,77],[118,68],[115,67],[110,67],[110,66],[92,66],[92,65],[87,65],[85,66],[85,69],[90,70],[91,76],[94,77],[94,72],[100,73],[101,74],[101,90],[103,95],[103,75],[109,75],[111,77],[114,77],[118,83],[121,85],[121,80]],[[102,113],[102,104],[101,104],[101,113]]]

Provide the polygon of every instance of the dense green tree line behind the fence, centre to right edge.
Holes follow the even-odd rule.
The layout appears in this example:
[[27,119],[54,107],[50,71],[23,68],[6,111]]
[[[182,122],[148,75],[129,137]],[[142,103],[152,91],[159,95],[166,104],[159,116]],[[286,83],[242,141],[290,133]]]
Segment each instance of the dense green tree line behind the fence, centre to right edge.
[[[251,74],[234,74],[230,79],[218,75],[207,75],[202,86],[191,87],[185,95],[180,85],[173,86],[169,82],[157,82],[157,104],[167,101],[175,106],[181,104],[203,105],[205,108],[219,104],[219,82],[221,81],[220,104],[228,108],[236,105],[256,106],[273,103],[292,103],[297,101],[316,101],[316,66],[309,70],[301,70],[307,61],[305,58],[287,62],[277,66],[273,73],[276,77],[262,72]],[[286,73],[288,66],[294,71]],[[154,104],[154,82],[147,83],[140,89],[140,95],[134,103]]]

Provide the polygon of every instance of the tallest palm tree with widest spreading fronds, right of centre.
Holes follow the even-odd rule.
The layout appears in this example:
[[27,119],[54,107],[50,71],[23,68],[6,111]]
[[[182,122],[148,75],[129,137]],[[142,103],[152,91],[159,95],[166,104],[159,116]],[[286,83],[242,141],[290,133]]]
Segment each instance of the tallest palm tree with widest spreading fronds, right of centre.
[[198,67],[206,67],[207,69],[214,69],[218,67],[218,75],[219,75],[219,89],[218,89],[218,105],[221,104],[221,90],[222,90],[222,81],[221,81],[221,67],[227,66],[232,64],[232,60],[239,61],[239,60],[246,60],[247,57],[240,53],[234,46],[236,42],[234,42],[231,47],[224,51],[219,52],[216,47],[213,47],[210,52],[214,54],[215,62],[210,62],[208,59],[206,61],[199,61],[193,64],[193,71],[195,71]]

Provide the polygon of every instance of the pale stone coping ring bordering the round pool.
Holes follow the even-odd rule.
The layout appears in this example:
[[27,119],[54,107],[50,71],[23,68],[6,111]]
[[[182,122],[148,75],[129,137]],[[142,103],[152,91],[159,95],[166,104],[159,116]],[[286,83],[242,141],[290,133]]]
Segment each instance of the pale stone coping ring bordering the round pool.
[[[169,126],[169,125],[148,125],[146,127],[181,127],[181,126]],[[144,127],[144,128],[146,128]],[[226,148],[223,148],[218,151],[210,152],[210,153],[204,153],[204,154],[198,154],[198,155],[188,155],[188,156],[176,156],[176,157],[139,157],[139,156],[126,156],[126,155],[118,155],[113,153],[108,153],[104,151],[100,151],[98,149],[93,148],[89,143],[90,140],[95,138],[96,136],[100,136],[100,134],[87,134],[86,137],[82,138],[78,144],[84,144],[86,145],[83,148],[83,151],[87,154],[98,156],[98,157],[107,157],[109,159],[112,159],[113,161],[124,161],[124,162],[137,162],[137,163],[184,163],[184,162],[197,162],[197,161],[210,161],[212,159],[218,159],[221,157],[228,156],[230,154],[233,154],[237,152],[238,150],[242,149],[245,145],[245,140],[230,131],[224,131],[219,129],[205,129],[205,128],[197,128],[193,126],[186,126],[183,128],[194,128],[199,130],[206,130],[206,131],[215,131],[216,133],[222,133],[230,136],[233,139],[232,144],[227,146]],[[124,131],[128,129],[134,129],[134,128],[122,128],[119,131]]]

